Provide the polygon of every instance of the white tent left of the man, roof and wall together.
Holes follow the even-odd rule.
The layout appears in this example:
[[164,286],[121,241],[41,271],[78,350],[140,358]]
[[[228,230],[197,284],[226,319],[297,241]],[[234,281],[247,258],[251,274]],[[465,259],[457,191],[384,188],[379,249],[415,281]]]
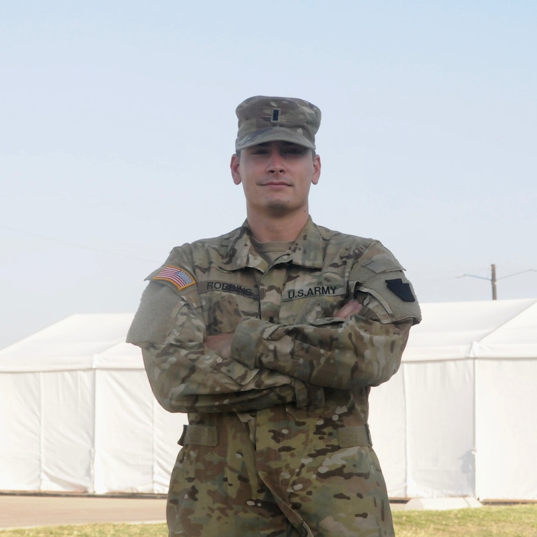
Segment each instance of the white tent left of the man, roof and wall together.
[[167,492],[186,416],[154,399],[132,317],[72,315],[0,351],[0,489]]

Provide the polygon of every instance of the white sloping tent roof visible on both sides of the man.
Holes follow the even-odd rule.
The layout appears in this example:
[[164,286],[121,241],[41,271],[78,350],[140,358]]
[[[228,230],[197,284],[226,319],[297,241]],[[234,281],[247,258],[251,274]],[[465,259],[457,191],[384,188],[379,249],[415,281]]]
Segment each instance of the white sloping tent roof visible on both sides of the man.
[[[404,361],[537,359],[537,299],[421,304]],[[131,313],[71,315],[0,350],[0,372],[143,369]]]

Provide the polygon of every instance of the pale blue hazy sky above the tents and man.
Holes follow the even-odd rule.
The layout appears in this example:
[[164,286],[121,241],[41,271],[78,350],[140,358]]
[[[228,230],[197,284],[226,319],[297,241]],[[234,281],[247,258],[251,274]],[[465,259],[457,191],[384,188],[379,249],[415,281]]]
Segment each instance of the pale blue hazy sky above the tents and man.
[[322,109],[310,213],[421,302],[490,299],[492,263],[536,297],[536,52],[534,0],[0,1],[0,348],[134,313],[173,246],[238,227],[256,94]]

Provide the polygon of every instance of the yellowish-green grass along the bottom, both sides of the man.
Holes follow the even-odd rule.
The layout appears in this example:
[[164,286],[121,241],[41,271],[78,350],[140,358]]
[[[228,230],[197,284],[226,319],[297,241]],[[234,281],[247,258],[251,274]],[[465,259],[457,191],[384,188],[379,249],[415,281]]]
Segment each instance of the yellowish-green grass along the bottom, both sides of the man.
[[[396,511],[397,537],[537,537],[537,505]],[[163,524],[93,524],[0,531],[0,537],[167,537]]]

